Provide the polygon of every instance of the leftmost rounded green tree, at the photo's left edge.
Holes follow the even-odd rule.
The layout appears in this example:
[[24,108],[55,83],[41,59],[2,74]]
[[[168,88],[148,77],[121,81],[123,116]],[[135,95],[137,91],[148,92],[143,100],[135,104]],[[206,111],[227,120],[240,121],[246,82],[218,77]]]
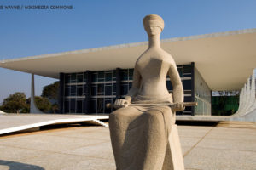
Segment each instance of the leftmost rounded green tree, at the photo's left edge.
[[8,113],[20,113],[26,109],[26,95],[16,92],[10,94],[8,98],[3,99],[2,110]]

